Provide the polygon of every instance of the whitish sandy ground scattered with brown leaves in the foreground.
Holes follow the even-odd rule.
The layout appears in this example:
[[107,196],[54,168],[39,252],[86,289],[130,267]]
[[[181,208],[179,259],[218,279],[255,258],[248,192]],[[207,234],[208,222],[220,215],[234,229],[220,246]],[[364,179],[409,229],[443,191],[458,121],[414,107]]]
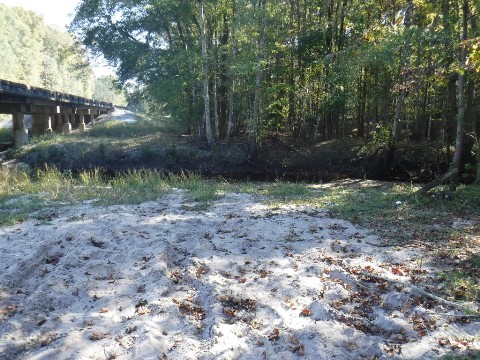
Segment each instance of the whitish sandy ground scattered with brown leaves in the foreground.
[[260,200],[227,194],[198,212],[177,190],[0,228],[0,358],[433,359],[479,347],[480,322],[449,323],[432,312],[451,309],[361,275],[426,278],[419,249],[373,247],[322,209]]

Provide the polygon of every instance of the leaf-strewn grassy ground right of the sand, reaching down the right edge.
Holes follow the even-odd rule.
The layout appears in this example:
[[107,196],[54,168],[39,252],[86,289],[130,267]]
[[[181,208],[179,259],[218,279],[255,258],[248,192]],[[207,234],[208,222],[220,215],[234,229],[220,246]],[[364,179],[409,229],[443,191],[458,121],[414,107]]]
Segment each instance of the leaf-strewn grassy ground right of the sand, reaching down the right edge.
[[324,208],[371,229],[385,244],[426,247],[443,269],[437,276],[445,295],[480,303],[480,186],[462,185],[455,193],[439,188],[415,196],[418,189],[406,183],[346,181],[320,186],[274,183],[259,187],[258,193],[268,195],[266,203],[274,208]]

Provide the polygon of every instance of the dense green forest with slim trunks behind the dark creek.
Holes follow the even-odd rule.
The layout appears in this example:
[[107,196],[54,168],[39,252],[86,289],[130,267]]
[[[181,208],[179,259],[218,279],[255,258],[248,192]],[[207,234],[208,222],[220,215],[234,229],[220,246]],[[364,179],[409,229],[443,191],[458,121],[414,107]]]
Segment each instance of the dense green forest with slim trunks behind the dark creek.
[[479,156],[479,10],[471,0],[83,0],[71,31],[150,111],[208,146],[242,135],[254,155],[272,135],[355,137],[383,144],[392,168],[402,144],[424,144],[462,173]]

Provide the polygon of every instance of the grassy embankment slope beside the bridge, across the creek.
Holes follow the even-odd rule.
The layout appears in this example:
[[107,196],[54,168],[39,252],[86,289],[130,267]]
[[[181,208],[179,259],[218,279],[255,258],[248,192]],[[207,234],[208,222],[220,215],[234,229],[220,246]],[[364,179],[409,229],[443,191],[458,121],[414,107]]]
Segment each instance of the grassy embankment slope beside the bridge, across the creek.
[[10,157],[32,167],[49,164],[62,169],[121,166],[125,161],[129,161],[132,168],[141,168],[156,161],[161,154],[171,158],[167,150],[180,138],[164,131],[163,118],[131,116],[136,118],[135,123],[111,120],[97,123],[83,133],[35,137],[28,146],[12,150]]

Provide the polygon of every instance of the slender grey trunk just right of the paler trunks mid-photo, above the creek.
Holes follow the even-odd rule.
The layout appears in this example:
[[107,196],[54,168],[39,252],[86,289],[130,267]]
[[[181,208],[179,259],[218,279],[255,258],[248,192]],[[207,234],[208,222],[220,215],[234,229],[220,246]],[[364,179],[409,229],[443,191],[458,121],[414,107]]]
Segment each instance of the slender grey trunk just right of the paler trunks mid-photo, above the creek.
[[255,78],[255,99],[253,101],[253,126],[252,126],[252,138],[250,142],[250,157],[254,157],[257,154],[257,136],[258,136],[258,123],[260,114],[260,83],[262,81],[262,61],[263,50],[265,47],[265,27],[267,25],[266,18],[266,0],[260,0],[261,18],[260,18],[260,35],[258,39],[258,54],[257,54],[257,75]]

